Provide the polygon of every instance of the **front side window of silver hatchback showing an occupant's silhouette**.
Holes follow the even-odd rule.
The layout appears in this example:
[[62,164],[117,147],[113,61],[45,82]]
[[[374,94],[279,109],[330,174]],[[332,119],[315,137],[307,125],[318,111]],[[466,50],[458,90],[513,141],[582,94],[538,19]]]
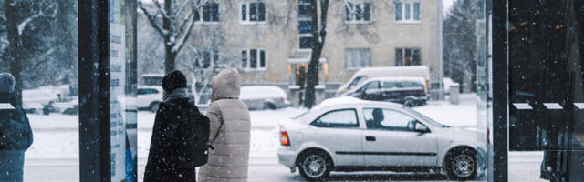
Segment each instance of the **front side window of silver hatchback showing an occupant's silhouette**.
[[371,130],[391,130],[391,131],[414,131],[418,122],[412,116],[401,112],[383,108],[364,108],[363,116],[367,129]]

